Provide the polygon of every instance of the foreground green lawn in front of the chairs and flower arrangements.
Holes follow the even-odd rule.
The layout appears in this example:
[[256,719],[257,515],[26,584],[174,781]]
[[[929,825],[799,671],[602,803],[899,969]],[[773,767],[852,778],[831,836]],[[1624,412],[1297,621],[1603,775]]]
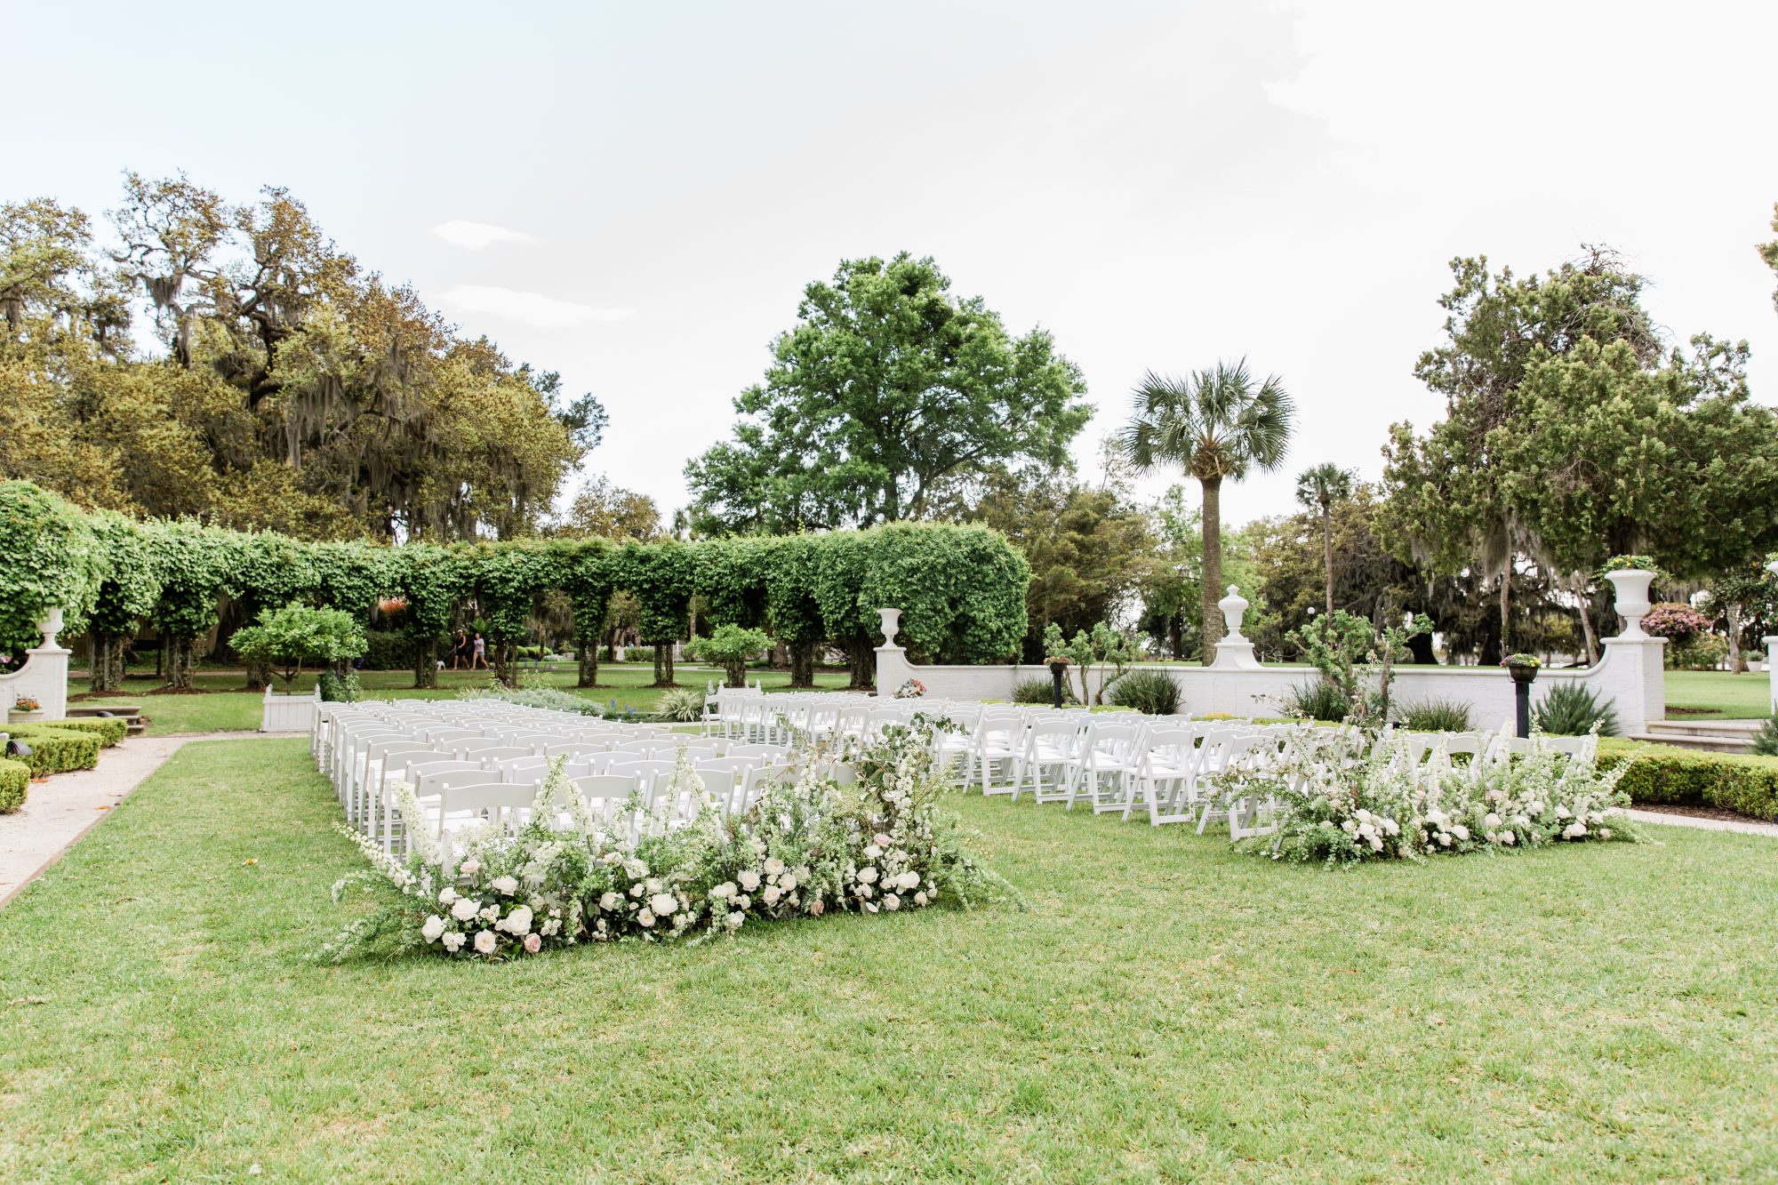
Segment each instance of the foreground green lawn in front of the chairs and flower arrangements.
[[1771,840],[1323,872],[958,808],[1029,909],[334,968],[306,746],[188,746],[0,913],[0,1178],[1778,1174]]

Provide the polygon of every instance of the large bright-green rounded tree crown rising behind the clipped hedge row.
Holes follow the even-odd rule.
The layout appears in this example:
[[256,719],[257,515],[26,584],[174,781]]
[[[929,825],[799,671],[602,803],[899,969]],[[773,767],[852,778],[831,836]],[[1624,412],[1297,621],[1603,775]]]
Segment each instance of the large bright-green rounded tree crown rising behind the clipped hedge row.
[[845,260],[804,290],[734,438],[686,464],[704,534],[930,518],[996,463],[1061,464],[1092,415],[1049,333],[1006,331],[930,258]]

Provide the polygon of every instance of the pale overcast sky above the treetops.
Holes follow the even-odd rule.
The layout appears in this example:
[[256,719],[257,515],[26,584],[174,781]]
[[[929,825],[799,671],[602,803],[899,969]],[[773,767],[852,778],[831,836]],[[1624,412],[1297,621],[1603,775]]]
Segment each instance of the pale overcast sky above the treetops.
[[[1280,475],[1366,477],[1456,254],[1609,244],[1675,342],[1778,402],[1778,4],[14,5],[0,199],[123,169],[290,187],[366,267],[610,409],[663,509],[802,286],[932,254],[1053,331],[1099,413],[1246,356],[1298,402]],[[580,477],[574,479],[576,482]]]

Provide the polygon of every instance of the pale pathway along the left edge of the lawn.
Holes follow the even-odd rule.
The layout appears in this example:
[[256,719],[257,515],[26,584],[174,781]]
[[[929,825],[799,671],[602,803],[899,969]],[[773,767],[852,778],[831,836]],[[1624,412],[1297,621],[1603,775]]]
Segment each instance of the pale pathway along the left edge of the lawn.
[[98,826],[110,808],[192,740],[252,740],[304,733],[185,733],[126,737],[100,751],[94,769],[55,774],[30,783],[30,794],[12,815],[0,815],[0,909],[75,842]]

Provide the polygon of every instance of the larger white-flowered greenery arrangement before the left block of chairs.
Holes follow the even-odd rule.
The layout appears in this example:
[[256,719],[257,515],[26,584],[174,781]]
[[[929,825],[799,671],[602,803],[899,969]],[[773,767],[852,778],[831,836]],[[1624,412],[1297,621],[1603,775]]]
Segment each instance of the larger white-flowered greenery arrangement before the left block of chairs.
[[[685,826],[658,826],[640,795],[612,815],[589,811],[557,762],[516,833],[475,827],[430,838],[411,786],[395,790],[414,836],[407,858],[338,824],[370,861],[343,877],[384,899],[324,950],[334,961],[393,938],[444,955],[510,959],[585,941],[708,938],[749,922],[825,913],[969,907],[1012,895],[967,850],[941,810],[932,760],[939,722],[916,717],[846,753],[798,749],[795,781],[724,818],[681,747],[667,801],[701,802]],[[848,760],[859,781],[841,785]],[[656,826],[651,826],[656,824]]]

